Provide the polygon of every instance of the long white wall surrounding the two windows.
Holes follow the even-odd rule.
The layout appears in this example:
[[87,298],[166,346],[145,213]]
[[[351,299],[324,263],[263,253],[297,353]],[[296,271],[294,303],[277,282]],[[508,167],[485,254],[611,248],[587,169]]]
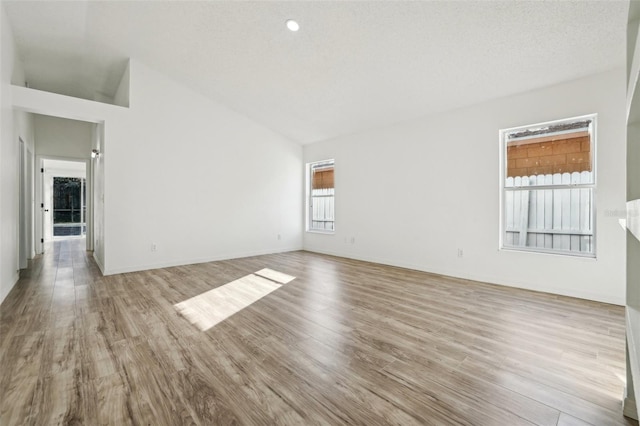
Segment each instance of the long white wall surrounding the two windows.
[[[305,162],[336,161],[336,233],[305,233],[304,248],[624,304],[624,72],[305,146]],[[588,113],[598,113],[597,260],[498,250],[499,129]]]

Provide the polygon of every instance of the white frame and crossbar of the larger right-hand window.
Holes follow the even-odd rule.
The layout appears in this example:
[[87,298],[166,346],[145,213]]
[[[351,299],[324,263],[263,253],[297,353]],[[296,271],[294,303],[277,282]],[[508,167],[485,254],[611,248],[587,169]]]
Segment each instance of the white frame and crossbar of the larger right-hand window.
[[[507,172],[508,172],[508,158],[507,158],[507,136],[511,133],[524,131],[527,129],[535,129],[535,128],[544,128],[548,126],[554,126],[559,124],[566,124],[572,122],[579,121],[587,121],[590,120],[591,123],[589,125],[588,131],[590,136],[590,155],[591,155],[591,173],[593,176],[591,183],[579,183],[579,184],[552,184],[552,185],[531,185],[531,186],[513,186],[507,187]],[[500,151],[500,172],[499,172],[499,188],[500,188],[500,218],[499,218],[499,236],[498,236],[498,249],[499,251],[508,251],[508,252],[528,252],[528,253],[539,253],[539,254],[550,254],[557,256],[569,256],[573,258],[585,258],[585,259],[597,259],[597,122],[598,122],[598,114],[586,114],[577,117],[564,118],[560,120],[552,120],[546,121],[542,123],[536,124],[528,124],[524,126],[516,126],[510,128],[504,128],[499,130],[499,151]],[[561,132],[549,132],[549,135],[553,134],[561,134]],[[526,189],[525,189],[526,188]],[[580,252],[580,251],[571,251],[571,250],[562,250],[562,249],[548,249],[541,247],[529,247],[529,246],[510,246],[505,245],[505,234],[507,232],[507,223],[506,223],[506,194],[509,191],[524,191],[524,190],[552,190],[552,189],[590,189],[591,190],[591,198],[590,198],[590,214],[591,214],[591,229],[592,229],[592,241],[591,241],[591,251],[590,252]]]

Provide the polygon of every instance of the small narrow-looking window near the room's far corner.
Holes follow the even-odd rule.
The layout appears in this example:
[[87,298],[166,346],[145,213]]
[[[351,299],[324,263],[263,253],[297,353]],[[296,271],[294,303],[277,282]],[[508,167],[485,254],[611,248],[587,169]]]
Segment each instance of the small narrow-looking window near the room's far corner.
[[307,164],[308,208],[307,231],[335,231],[334,161]]

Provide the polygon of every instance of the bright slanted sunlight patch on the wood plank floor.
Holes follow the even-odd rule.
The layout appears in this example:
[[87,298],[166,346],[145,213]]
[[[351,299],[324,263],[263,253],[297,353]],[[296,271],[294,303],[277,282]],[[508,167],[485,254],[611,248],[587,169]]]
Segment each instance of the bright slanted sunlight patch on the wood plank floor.
[[189,322],[206,331],[294,279],[291,275],[265,268],[174,307]]

